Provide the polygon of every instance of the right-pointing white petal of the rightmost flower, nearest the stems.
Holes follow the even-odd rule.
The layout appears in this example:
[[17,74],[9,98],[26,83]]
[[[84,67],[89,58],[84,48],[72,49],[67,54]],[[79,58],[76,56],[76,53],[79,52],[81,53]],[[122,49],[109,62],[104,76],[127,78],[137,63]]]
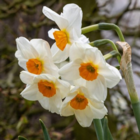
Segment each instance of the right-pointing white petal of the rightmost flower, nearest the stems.
[[112,88],[119,83],[122,79],[120,72],[115,67],[106,63],[106,66],[99,68],[99,74],[102,75],[105,80],[107,87]]

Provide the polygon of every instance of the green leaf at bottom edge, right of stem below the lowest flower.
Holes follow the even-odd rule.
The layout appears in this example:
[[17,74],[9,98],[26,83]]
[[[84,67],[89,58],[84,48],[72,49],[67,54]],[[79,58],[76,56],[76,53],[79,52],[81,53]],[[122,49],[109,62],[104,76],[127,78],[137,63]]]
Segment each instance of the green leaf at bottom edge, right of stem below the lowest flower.
[[111,132],[108,127],[107,117],[105,117],[102,120],[102,124],[103,124],[103,130],[104,130],[104,140],[113,140],[113,137],[112,137]]

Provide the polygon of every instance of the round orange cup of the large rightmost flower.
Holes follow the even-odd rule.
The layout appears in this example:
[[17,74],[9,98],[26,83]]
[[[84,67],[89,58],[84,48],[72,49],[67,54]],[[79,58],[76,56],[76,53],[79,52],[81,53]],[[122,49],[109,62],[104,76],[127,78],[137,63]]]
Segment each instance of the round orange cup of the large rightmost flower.
[[93,65],[93,63],[82,63],[79,68],[79,74],[82,78],[86,79],[87,81],[93,81],[98,76],[98,66]]

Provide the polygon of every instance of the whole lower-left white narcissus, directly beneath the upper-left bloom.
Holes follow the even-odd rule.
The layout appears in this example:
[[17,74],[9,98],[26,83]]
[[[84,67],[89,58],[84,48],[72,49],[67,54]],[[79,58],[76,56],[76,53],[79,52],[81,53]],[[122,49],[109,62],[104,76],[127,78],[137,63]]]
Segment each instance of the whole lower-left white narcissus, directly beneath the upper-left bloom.
[[22,71],[20,78],[27,84],[21,95],[31,101],[39,101],[41,106],[59,114],[62,99],[69,93],[70,85],[49,74],[34,75]]

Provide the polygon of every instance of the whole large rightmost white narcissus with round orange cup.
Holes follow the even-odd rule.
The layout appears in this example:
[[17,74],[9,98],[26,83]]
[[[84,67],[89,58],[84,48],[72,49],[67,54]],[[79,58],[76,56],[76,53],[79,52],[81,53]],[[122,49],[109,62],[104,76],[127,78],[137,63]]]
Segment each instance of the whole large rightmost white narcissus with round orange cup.
[[75,85],[87,87],[99,100],[105,100],[107,87],[112,88],[121,79],[119,71],[106,63],[101,52],[88,44],[73,44],[71,62],[59,70],[62,79],[74,80]]

